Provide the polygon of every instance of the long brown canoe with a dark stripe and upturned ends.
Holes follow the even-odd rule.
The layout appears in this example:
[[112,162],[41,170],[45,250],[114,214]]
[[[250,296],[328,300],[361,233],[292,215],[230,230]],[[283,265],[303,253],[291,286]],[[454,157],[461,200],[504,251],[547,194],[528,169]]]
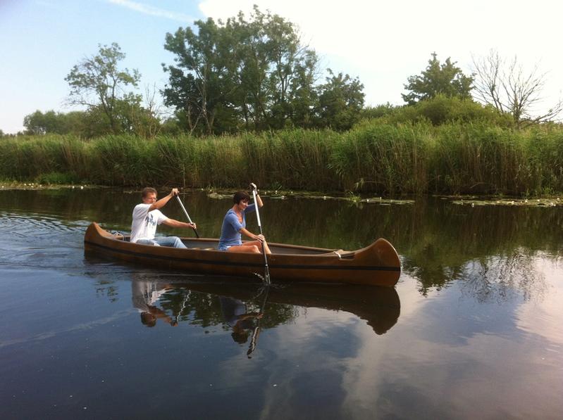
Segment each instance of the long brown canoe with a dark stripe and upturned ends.
[[[130,243],[92,223],[84,237],[85,253],[187,272],[254,277],[264,274],[261,254],[216,250],[218,240],[182,238],[187,249]],[[399,255],[380,238],[354,251],[268,243],[268,267],[272,281],[395,286],[401,274]]]

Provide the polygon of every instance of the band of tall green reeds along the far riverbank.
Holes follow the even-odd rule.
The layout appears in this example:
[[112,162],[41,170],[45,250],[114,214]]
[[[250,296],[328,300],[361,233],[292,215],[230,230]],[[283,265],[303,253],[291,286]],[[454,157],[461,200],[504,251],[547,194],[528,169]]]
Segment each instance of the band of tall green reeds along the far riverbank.
[[563,191],[563,129],[366,121],[199,139],[0,140],[0,179],[42,184],[538,196]]

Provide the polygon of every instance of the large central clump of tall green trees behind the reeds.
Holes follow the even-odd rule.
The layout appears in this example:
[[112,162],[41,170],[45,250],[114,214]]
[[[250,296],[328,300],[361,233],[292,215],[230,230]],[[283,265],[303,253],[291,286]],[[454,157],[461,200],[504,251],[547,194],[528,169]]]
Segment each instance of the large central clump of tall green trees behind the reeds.
[[175,65],[163,65],[165,103],[190,134],[234,134],[292,127],[349,129],[364,103],[363,85],[333,75],[316,86],[318,58],[294,24],[254,7],[225,23],[198,20],[166,34]]

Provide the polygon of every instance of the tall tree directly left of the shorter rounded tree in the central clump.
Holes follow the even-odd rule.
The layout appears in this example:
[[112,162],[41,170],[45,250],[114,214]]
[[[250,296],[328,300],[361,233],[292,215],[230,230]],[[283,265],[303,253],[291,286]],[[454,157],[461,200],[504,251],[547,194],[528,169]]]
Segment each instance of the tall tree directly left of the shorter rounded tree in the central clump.
[[316,99],[318,58],[303,46],[297,27],[257,6],[250,20],[239,13],[228,20],[237,39],[238,80],[245,122],[256,129],[307,125]]

